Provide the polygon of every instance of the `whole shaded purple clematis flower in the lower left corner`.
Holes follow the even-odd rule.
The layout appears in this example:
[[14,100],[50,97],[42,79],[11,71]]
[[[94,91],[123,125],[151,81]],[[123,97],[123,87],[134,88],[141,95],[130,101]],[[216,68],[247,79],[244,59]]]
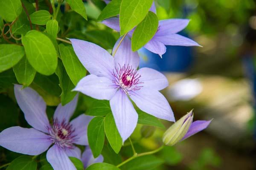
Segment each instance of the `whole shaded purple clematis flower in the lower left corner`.
[[[39,155],[47,151],[47,161],[54,170],[76,170],[69,156],[81,159],[81,150],[74,144],[88,145],[87,125],[91,116],[80,115],[69,122],[76,109],[76,96],[67,105],[55,110],[50,125],[44,99],[32,88],[14,86],[15,97],[26,121],[33,128],[9,127],[0,133],[0,146],[13,152]],[[87,154],[86,156],[89,157]]]

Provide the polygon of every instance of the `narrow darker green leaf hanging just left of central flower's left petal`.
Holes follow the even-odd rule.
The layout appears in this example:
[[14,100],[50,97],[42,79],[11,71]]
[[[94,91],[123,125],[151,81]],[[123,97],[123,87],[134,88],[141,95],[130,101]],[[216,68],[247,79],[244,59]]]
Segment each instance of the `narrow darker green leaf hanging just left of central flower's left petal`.
[[55,71],[59,78],[60,87],[62,89],[61,93],[61,104],[66,105],[70,102],[77,94],[76,91],[71,91],[75,88],[75,85],[71,82],[70,78],[67,75],[67,72],[61,61],[58,62],[58,67]]

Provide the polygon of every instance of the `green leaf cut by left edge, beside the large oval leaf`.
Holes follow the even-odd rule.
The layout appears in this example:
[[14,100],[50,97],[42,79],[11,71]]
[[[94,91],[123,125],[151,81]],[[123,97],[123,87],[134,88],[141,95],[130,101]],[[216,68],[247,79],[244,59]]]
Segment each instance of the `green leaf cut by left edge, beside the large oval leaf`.
[[20,45],[0,44],[0,72],[12,68],[24,54],[24,48]]

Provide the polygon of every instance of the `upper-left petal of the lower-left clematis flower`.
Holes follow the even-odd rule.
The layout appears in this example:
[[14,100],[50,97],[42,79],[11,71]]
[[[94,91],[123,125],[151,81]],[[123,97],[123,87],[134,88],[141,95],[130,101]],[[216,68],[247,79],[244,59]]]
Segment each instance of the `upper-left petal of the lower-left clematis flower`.
[[48,133],[49,120],[46,115],[44,99],[32,88],[22,89],[22,85],[14,86],[14,94],[29,125],[37,130]]

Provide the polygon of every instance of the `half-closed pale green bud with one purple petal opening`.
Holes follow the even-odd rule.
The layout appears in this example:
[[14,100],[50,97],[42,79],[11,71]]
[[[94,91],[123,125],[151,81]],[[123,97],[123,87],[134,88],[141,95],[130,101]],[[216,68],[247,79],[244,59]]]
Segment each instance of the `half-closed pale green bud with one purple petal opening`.
[[173,146],[208,127],[212,120],[193,121],[193,110],[180,118],[163,134],[163,143]]

